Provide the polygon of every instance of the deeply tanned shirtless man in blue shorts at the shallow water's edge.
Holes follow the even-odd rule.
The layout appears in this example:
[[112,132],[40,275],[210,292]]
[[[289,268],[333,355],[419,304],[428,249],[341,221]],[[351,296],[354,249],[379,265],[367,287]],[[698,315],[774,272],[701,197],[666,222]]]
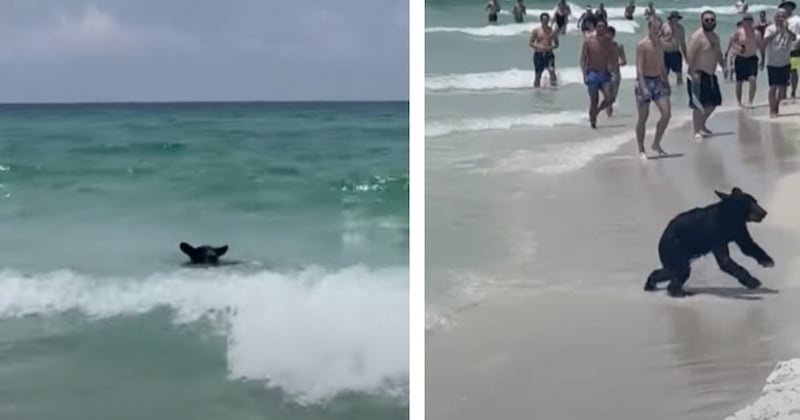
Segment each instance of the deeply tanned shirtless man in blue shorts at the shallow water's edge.
[[[613,62],[619,60],[608,36],[605,21],[597,22],[595,33],[583,40],[581,48],[581,70],[586,89],[589,92],[589,124],[597,128],[597,114],[611,105],[611,72]],[[603,102],[598,105],[600,91]]]

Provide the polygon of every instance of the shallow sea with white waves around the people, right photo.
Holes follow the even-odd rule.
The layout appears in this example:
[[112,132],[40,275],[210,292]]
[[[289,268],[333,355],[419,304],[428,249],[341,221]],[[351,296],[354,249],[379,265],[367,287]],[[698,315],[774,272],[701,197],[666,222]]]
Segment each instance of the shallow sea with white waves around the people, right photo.
[[[516,264],[536,253],[535,232],[489,228],[494,218],[508,211],[491,208],[492,200],[503,201],[509,193],[526,193],[509,187],[509,180],[524,179],[531,187],[529,191],[536,186],[550,188],[598,156],[626,144],[633,148],[631,82],[635,77],[635,44],[646,33],[642,16],[646,2],[637,2],[633,21],[623,18],[627,1],[605,2],[609,22],[616,28],[616,39],[624,46],[630,64],[622,68],[615,116],[601,115],[598,130],[588,129],[588,97],[578,65],[581,35],[576,25],[585,5],[569,3],[575,16],[555,52],[559,85],[534,90],[528,37],[539,25],[539,14],[552,13],[556,2],[525,1],[528,16],[521,24],[514,23],[510,14],[514,2],[504,0],[501,4],[497,25],[487,22],[481,2],[429,0],[425,6],[426,296],[428,312],[433,314],[429,326],[441,322],[443,313],[480,301],[500,287],[496,278],[486,274],[489,267],[507,268],[504,262]],[[717,33],[725,44],[739,19],[733,2],[725,0],[662,1],[656,2],[656,8],[662,16],[678,10],[687,34],[699,27],[700,12],[715,11]],[[750,11],[772,8],[752,4]],[[758,98],[763,98],[765,76],[760,75],[760,80]],[[543,81],[543,85],[548,84],[546,74]],[[732,85],[725,84],[724,98],[729,100],[732,95]],[[685,90],[674,89],[673,126],[690,118],[686,102]],[[651,115],[650,123],[655,120]],[[673,146],[665,147],[670,150]],[[525,209],[519,212],[524,218]],[[495,222],[508,224],[506,219]],[[518,246],[501,249],[483,245],[496,244],[498,237],[509,235],[519,237]],[[528,279],[519,281],[529,283]]]

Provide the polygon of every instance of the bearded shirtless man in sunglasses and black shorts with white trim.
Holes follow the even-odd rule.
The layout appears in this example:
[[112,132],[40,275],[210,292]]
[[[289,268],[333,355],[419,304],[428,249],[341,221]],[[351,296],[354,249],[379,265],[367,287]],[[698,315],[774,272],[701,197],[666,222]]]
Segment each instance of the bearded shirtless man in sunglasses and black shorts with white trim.
[[706,10],[700,15],[700,22],[700,29],[689,37],[686,46],[686,62],[689,67],[686,91],[689,94],[689,107],[693,110],[695,139],[698,140],[712,135],[706,123],[714,108],[722,104],[719,81],[714,73],[718,64],[723,70],[727,68],[722,57],[719,36],[714,32],[717,27],[716,14]]

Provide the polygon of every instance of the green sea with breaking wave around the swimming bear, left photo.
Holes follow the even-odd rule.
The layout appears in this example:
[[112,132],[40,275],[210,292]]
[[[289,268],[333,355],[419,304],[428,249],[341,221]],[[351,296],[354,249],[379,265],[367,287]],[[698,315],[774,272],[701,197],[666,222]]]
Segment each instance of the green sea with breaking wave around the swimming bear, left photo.
[[407,418],[407,102],[3,105],[0,215],[4,420]]

